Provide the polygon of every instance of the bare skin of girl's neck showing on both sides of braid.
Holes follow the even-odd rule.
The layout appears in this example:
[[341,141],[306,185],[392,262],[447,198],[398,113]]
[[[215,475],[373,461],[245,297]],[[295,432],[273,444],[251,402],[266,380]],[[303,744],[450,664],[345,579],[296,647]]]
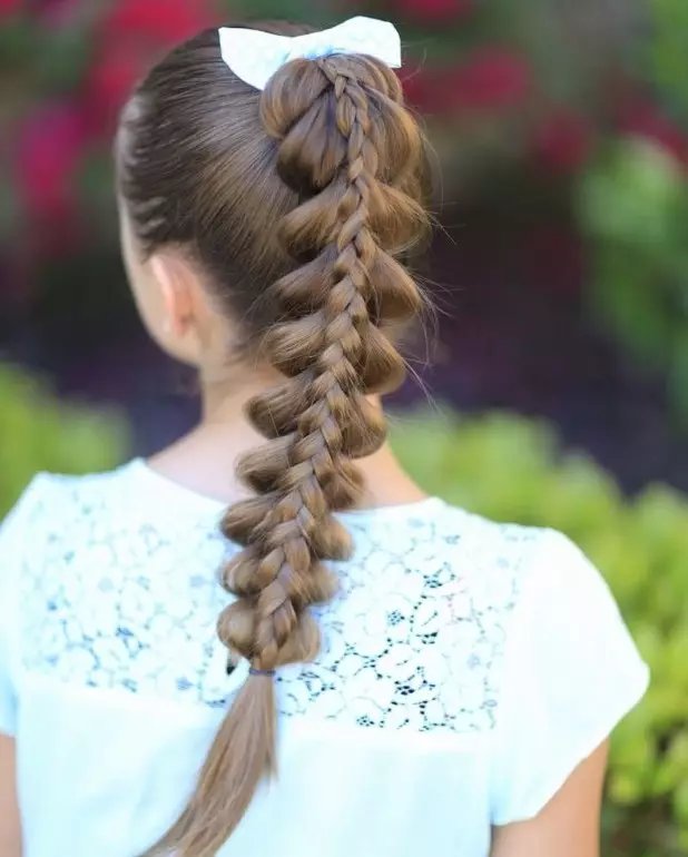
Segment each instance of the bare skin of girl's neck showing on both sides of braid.
[[[220,385],[203,392],[200,423],[149,460],[167,479],[204,496],[233,503],[249,492],[236,477],[236,463],[265,439],[246,418],[246,405],[272,384],[246,382],[228,391]],[[379,402],[376,404],[380,404]],[[362,508],[389,506],[422,500],[424,492],[404,473],[389,445],[358,461],[367,491]]]

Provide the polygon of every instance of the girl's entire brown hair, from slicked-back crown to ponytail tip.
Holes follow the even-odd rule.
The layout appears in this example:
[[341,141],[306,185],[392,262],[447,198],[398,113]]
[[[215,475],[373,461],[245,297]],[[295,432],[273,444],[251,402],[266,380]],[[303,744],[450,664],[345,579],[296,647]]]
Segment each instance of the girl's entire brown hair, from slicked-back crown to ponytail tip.
[[[243,549],[223,571],[237,599],[218,633],[268,676],[318,652],[308,607],[336,589],[323,561],[351,546],[332,513],[360,500],[352,460],[385,439],[366,396],[404,375],[389,329],[419,313],[421,295],[394,257],[426,225],[425,164],[396,76],[365,56],[293,60],[261,92],[208,31],[154,68],[125,110],[119,187],[144,253],[184,247],[285,376],[249,403],[267,439],[239,464],[255,498],[222,525]],[[252,673],[186,809],[148,854],[215,855],[275,769],[275,732],[274,682]]]

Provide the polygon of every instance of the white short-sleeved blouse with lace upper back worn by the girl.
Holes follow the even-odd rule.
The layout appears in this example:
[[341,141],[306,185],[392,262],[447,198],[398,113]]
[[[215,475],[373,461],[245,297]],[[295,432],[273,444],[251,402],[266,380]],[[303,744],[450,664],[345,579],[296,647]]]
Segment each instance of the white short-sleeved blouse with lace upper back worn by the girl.
[[[215,634],[223,506],[135,461],[38,476],[0,531],[0,731],[26,857],[136,857],[176,819],[246,664]],[[223,857],[486,857],[642,697],[583,554],[440,500],[342,518],[355,540],[281,670],[279,776]]]

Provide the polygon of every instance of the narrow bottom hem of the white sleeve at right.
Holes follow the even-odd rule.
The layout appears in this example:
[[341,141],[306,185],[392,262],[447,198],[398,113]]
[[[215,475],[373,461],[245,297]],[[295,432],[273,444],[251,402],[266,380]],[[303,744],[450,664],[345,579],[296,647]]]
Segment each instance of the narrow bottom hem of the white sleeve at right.
[[508,811],[495,816],[492,819],[493,826],[505,827],[507,825],[530,821],[535,818],[561,790],[576,768],[594,752],[609,738],[621,720],[636,708],[645,697],[649,683],[649,667],[646,663],[641,663],[641,668],[637,671],[633,680],[629,682],[627,692],[623,697],[619,698],[619,702],[613,710],[608,712],[607,717],[600,721],[598,730],[588,736],[584,741],[579,741],[571,747],[571,752],[566,759],[562,759],[562,762],[542,782],[537,792],[533,792],[530,800],[520,811]]

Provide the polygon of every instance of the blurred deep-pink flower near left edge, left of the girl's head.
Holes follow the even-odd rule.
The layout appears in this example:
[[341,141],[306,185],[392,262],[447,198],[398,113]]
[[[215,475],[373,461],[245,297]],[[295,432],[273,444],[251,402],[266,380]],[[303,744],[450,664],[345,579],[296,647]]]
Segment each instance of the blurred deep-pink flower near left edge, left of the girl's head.
[[76,213],[75,176],[83,154],[79,111],[69,104],[40,107],[19,129],[17,178],[27,211],[59,221]]

